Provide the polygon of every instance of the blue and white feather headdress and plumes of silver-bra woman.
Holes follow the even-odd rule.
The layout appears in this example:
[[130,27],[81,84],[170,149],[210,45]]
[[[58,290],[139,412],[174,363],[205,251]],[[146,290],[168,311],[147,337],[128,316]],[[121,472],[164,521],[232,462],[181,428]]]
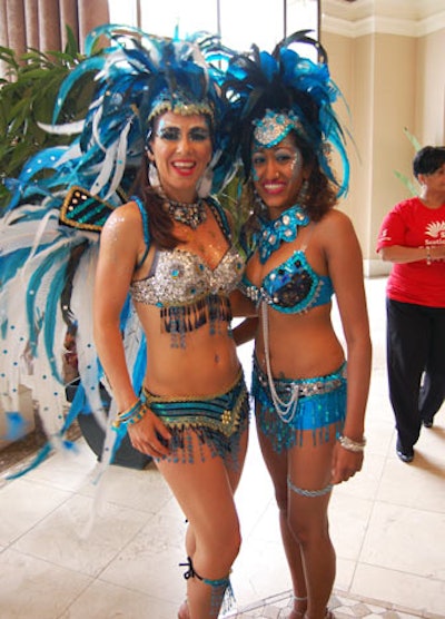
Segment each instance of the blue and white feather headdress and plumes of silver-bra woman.
[[[108,45],[97,51],[99,40]],[[166,109],[208,114],[214,136],[214,190],[230,176],[230,139],[214,70],[205,60],[215,39],[162,39],[138,29],[103,26],[86,41],[86,58],[66,78],[48,131],[72,135],[69,146],[48,148],[9,179],[11,200],[0,218],[0,409],[22,431],[20,390],[39,409],[48,445],[69,445],[67,430],[79,412],[107,425],[103,376],[92,335],[92,288],[100,229],[127,202],[145,153],[154,115]],[[57,125],[68,94],[91,75],[96,89],[81,121]],[[188,111],[187,111],[188,110]],[[144,335],[128,302],[121,316],[135,389],[145,372]],[[67,343],[76,340],[80,386],[67,406]]]

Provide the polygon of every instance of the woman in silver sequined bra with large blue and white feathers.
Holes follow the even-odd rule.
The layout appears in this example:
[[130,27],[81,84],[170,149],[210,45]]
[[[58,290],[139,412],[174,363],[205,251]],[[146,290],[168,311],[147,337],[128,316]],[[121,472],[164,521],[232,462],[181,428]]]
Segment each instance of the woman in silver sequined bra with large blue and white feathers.
[[[109,46],[89,53],[103,35]],[[205,60],[212,45],[116,27],[91,33],[55,115],[91,71],[85,121],[57,128],[79,137],[27,164],[1,223],[3,351],[12,362],[1,379],[4,409],[18,409],[8,386],[26,380],[13,361],[28,358],[50,449],[79,411],[107,425],[100,386],[108,390],[115,450],[128,433],[188,521],[182,619],[216,618],[228,599],[248,428],[229,299],[244,261],[211,197],[231,173],[218,70]],[[80,386],[65,416],[67,333]]]

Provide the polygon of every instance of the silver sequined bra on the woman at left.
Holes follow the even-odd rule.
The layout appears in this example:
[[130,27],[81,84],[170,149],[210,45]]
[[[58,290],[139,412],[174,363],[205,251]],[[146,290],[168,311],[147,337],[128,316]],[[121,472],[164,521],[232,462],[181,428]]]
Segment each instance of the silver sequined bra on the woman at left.
[[166,307],[189,305],[208,295],[229,295],[237,287],[244,259],[230,247],[211,269],[200,256],[182,249],[159,249],[145,279],[131,282],[134,301]]

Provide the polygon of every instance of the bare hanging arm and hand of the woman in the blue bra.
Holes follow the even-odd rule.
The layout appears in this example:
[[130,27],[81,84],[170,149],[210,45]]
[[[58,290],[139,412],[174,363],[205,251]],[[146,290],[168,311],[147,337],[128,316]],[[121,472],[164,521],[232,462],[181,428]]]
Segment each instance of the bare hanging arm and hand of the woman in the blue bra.
[[[363,256],[349,218],[335,210],[324,226],[325,253],[337,297],[346,340],[347,409],[344,436],[362,442],[369,392],[372,343],[363,274]],[[333,483],[346,481],[359,471],[363,452],[352,452],[337,443]]]

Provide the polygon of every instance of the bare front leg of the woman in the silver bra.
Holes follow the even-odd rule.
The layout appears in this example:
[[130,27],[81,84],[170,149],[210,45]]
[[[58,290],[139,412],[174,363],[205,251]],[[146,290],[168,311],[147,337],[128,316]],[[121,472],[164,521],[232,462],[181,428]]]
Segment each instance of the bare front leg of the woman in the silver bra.
[[[195,448],[198,448],[194,436]],[[195,461],[158,462],[188,522],[186,549],[194,570],[206,580],[228,578],[240,546],[239,522],[234,502],[247,448],[247,431],[241,438],[239,468],[228,471],[224,461],[212,458],[201,445],[205,461],[195,449]],[[187,580],[190,619],[214,619],[218,616],[224,588],[212,587],[199,578]],[[184,613],[182,613],[184,615]],[[186,615],[184,615],[186,617]]]

